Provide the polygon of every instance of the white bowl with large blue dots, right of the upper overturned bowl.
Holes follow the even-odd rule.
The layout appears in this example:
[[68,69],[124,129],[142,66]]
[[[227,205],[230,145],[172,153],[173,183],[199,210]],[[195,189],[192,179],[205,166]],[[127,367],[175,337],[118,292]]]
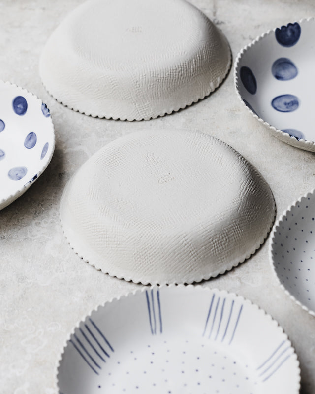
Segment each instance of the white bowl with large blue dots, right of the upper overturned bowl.
[[315,152],[315,19],[270,30],[240,51],[234,81],[252,115],[287,144]]

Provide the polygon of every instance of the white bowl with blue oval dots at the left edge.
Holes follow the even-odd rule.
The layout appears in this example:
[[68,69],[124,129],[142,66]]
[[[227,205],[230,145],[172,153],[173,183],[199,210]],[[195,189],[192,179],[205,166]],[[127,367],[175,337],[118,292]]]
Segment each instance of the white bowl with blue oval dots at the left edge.
[[47,106],[0,81],[0,209],[20,197],[49,164],[55,133]]

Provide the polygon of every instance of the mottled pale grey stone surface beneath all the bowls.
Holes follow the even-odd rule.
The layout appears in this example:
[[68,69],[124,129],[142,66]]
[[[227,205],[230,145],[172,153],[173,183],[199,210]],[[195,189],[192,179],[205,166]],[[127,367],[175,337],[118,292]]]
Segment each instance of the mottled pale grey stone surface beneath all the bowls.
[[[56,393],[55,369],[68,333],[98,304],[142,285],[109,277],[84,263],[67,244],[59,200],[74,171],[99,147],[133,131],[186,128],[214,135],[262,173],[277,217],[315,184],[315,156],[271,136],[243,107],[230,72],[206,99],[172,115],[142,122],[95,119],[63,107],[43,88],[38,62],[63,17],[81,0],[0,0],[0,78],[23,86],[51,110],[56,150],[46,171],[0,211],[0,393]],[[233,59],[268,29],[315,15],[312,0],[192,0],[223,31]],[[263,59],[262,59],[263,61]],[[301,393],[315,393],[315,318],[280,289],[268,242],[245,263],[202,286],[235,292],[272,315],[301,364]]]

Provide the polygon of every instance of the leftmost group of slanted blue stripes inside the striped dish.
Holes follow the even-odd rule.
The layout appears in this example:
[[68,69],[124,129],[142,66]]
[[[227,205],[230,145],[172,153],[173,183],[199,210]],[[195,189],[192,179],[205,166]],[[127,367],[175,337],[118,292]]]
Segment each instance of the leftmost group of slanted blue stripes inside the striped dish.
[[105,335],[90,318],[84,327],[75,330],[69,342],[96,375],[102,369],[101,363],[106,362],[105,357],[109,358],[110,352],[114,352]]

